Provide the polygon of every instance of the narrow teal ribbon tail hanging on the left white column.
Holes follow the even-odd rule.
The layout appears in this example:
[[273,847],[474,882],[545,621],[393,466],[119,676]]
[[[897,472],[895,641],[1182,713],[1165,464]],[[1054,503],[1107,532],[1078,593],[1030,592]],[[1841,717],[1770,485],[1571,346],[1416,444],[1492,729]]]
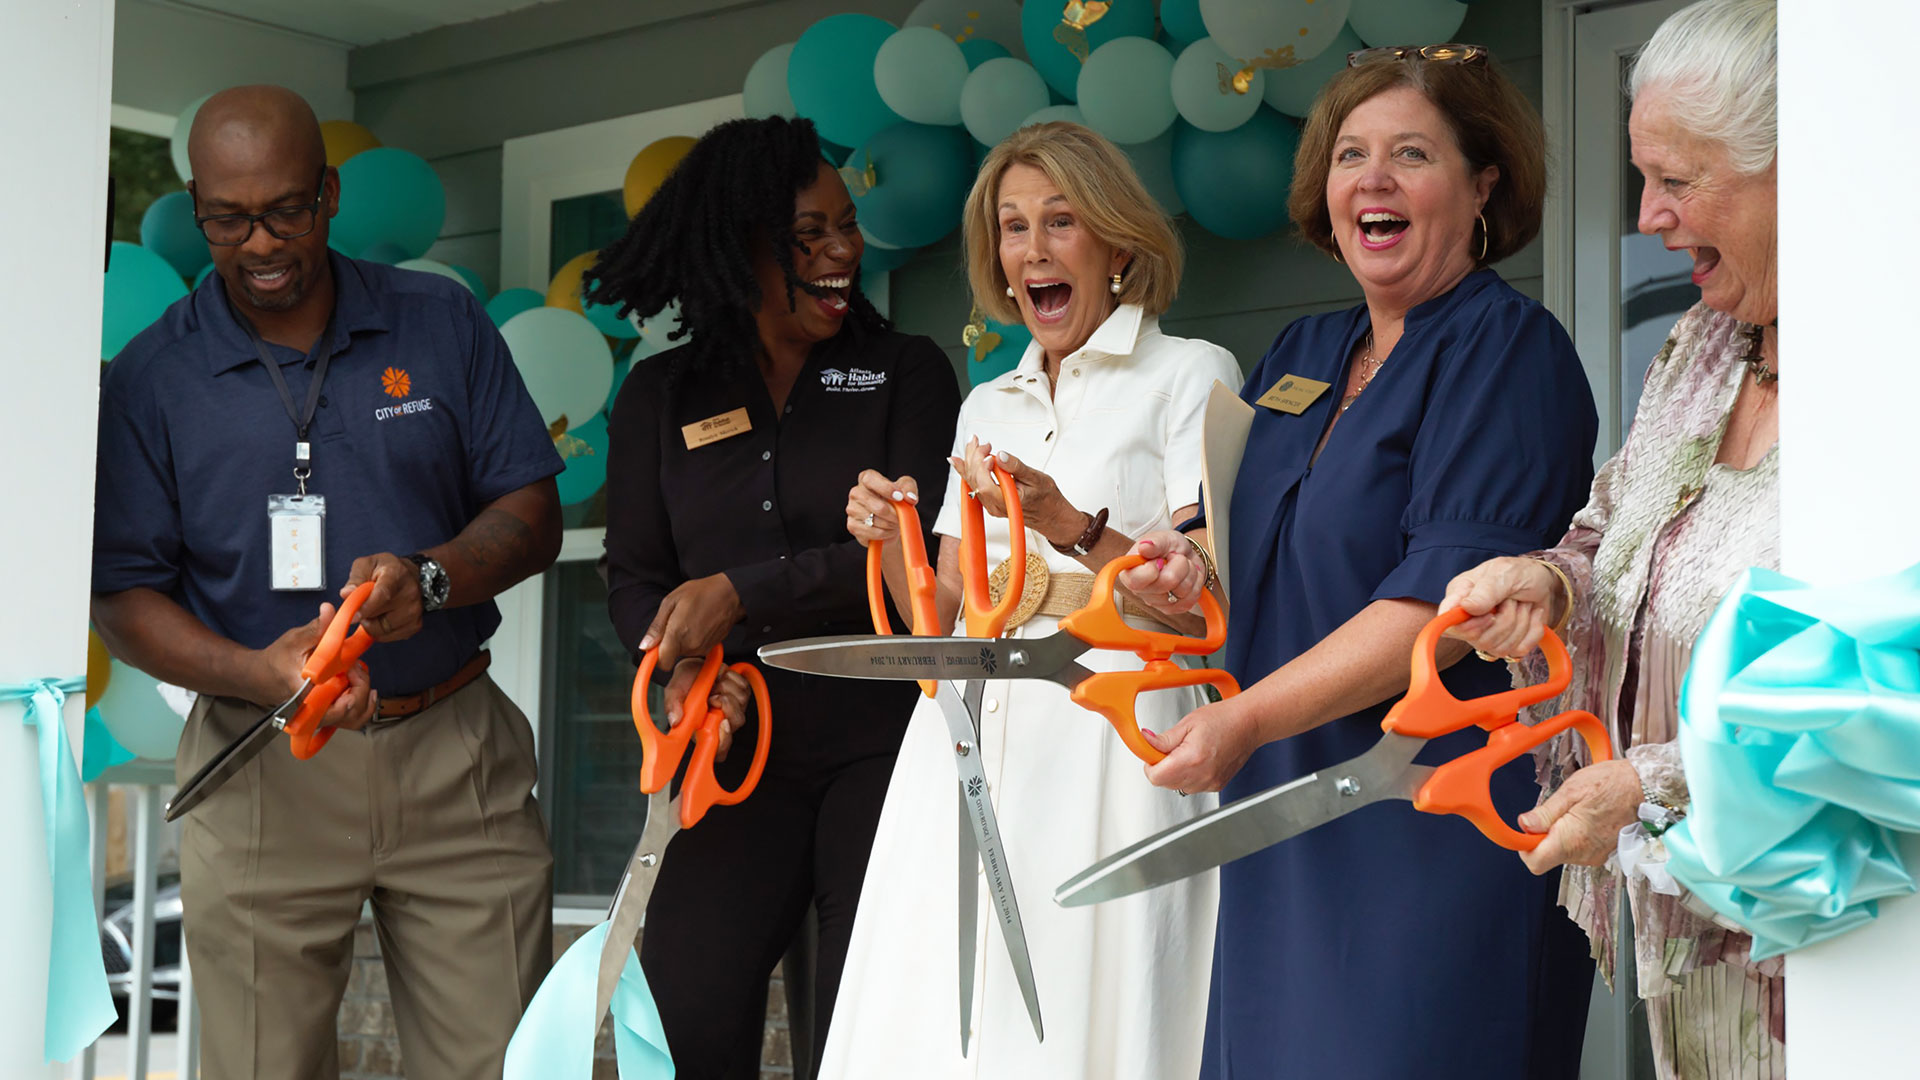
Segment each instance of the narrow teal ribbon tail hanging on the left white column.
[[113,1022],[108,969],[94,922],[86,798],[67,746],[61,709],[84,678],[38,678],[0,686],[0,701],[25,701],[27,726],[40,732],[40,805],[46,817],[46,872],[54,882],[54,934],[46,965],[48,1063],[71,1061]]

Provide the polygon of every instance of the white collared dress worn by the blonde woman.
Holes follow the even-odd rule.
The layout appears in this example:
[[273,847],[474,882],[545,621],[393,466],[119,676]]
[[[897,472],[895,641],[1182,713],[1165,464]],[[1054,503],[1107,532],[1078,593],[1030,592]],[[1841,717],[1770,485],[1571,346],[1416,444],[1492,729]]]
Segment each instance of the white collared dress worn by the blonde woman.
[[[970,436],[1048,473],[1083,511],[1108,507],[1125,536],[1173,525],[1200,502],[1200,417],[1213,380],[1238,386],[1233,354],[1169,338],[1154,317],[1121,306],[1060,365],[1048,396],[1041,346],[977,386],[960,409],[956,454]],[[960,534],[960,484],[948,484],[935,530]],[[1006,521],[987,519],[987,559],[1008,557]],[[1056,575],[1087,573],[1027,534]],[[962,630],[954,630],[962,632]],[[1041,638],[1037,615],[1012,636]],[[1139,669],[1131,653],[1089,651],[1094,671]],[[1140,726],[1165,730],[1198,707],[1194,688],[1139,701]],[[1215,874],[1094,907],[1066,909],[1054,888],[1096,859],[1215,805],[1154,788],[1096,713],[1046,680],[987,686],[981,753],[1033,955],[1046,1042],[1037,1042],[975,874],[973,1034],[960,1055],[954,926],[958,799],[941,707],[920,700],[887,790],[868,861],[820,1076],[839,1080],[1164,1080],[1200,1068],[1213,957]]]

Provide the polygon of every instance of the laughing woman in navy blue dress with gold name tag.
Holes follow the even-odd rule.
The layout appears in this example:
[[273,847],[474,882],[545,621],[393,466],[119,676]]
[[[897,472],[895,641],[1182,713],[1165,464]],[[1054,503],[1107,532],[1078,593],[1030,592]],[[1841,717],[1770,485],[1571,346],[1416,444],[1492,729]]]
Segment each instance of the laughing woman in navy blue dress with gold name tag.
[[[1486,269],[1540,229],[1540,119],[1484,52],[1452,48],[1356,54],[1308,119],[1292,217],[1367,302],[1286,327],[1242,390],[1223,659],[1246,692],[1152,736],[1154,784],[1227,801],[1365,751],[1448,580],[1551,544],[1586,502],[1580,361]],[[1288,380],[1290,404],[1260,404]],[[1158,563],[1125,584],[1190,609],[1194,548],[1139,550]],[[1440,659],[1461,698],[1509,684],[1455,642]],[[1471,728],[1421,761],[1475,746]],[[1509,821],[1536,798],[1530,761],[1496,774]],[[1404,801],[1221,867],[1202,1076],[1572,1080],[1592,961],[1555,890]]]

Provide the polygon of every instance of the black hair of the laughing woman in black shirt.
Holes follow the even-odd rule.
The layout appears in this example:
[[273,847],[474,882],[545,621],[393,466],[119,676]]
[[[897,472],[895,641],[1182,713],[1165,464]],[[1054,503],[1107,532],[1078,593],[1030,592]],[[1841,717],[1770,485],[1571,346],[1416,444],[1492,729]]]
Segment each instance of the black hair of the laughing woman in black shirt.
[[[814,183],[822,161],[820,136],[806,119],[714,127],[666,175],[626,234],[599,254],[586,273],[586,298],[643,319],[680,300],[680,331],[670,336],[691,332],[693,348],[678,350],[676,359],[751,365],[760,342],[753,244],[772,244],[791,309],[795,290],[812,290],[793,271],[793,198]],[[891,329],[860,292],[858,271],[847,302],[854,332]]]

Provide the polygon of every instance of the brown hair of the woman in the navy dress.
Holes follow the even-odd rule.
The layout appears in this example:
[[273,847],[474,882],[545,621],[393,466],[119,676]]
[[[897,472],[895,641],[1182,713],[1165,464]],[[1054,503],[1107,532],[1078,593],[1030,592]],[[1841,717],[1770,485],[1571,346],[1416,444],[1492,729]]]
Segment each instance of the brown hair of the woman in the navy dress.
[[[1486,258],[1500,261],[1540,234],[1540,206],[1548,188],[1548,146],[1532,102],[1494,65],[1394,60],[1344,67],[1313,102],[1300,150],[1294,154],[1294,186],[1286,213],[1309,244],[1338,256],[1332,217],[1327,213],[1327,173],[1332,144],[1346,117],[1377,94],[1398,86],[1419,90],[1453,131],[1453,142],[1471,173],[1494,165],[1500,179],[1486,198]],[[1478,250],[1473,252],[1478,258]]]

